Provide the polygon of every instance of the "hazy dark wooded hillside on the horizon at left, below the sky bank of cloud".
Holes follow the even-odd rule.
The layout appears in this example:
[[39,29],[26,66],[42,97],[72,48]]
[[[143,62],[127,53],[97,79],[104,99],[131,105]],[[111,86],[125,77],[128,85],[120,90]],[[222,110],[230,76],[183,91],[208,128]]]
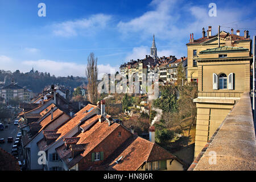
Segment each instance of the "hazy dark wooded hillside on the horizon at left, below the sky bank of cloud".
[[34,93],[42,92],[42,90],[51,84],[59,84],[67,87],[75,88],[86,83],[86,78],[84,77],[55,77],[49,73],[34,71],[32,69],[30,72],[21,73],[19,70],[15,72],[0,70],[0,87],[6,86],[11,83],[11,78],[21,87],[26,86],[27,89],[32,90]]

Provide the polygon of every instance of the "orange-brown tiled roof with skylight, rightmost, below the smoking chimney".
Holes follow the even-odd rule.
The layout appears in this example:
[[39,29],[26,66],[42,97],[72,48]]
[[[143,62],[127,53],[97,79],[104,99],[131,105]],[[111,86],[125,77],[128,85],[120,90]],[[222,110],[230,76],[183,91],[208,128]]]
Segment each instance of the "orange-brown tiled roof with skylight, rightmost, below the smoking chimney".
[[[121,158],[119,163],[115,163],[119,158]],[[176,159],[180,162],[175,155],[172,155],[158,144],[141,137],[135,137],[126,140],[121,147],[113,152],[113,155],[108,160],[111,161],[109,164],[110,169],[117,171],[136,171],[145,162],[167,159]]]

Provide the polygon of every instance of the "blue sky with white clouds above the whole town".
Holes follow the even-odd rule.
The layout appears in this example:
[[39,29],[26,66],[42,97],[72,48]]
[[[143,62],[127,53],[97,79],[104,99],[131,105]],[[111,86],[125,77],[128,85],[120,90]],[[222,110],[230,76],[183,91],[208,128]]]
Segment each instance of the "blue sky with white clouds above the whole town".
[[[38,16],[42,2],[46,17]],[[216,3],[216,17],[208,15],[209,3]],[[189,34],[201,38],[203,27],[212,26],[213,35],[219,24],[240,27],[241,35],[256,28],[255,7],[253,1],[0,0],[0,69],[85,76],[94,52],[102,75],[149,55],[153,34],[159,56],[187,56]]]

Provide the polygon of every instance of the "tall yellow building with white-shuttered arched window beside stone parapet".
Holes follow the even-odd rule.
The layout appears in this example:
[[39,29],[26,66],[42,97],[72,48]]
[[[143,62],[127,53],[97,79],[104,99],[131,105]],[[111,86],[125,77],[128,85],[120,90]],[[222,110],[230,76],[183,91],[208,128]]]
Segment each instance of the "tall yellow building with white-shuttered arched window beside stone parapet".
[[[250,91],[252,61],[251,39],[246,35],[241,37],[222,31],[220,46],[218,36],[207,40],[209,45],[205,42],[200,44],[201,47],[188,46],[188,80],[197,80],[199,92],[194,100],[197,107],[195,157],[243,92]],[[196,56],[191,56],[195,49]],[[193,62],[196,66],[191,67]]]

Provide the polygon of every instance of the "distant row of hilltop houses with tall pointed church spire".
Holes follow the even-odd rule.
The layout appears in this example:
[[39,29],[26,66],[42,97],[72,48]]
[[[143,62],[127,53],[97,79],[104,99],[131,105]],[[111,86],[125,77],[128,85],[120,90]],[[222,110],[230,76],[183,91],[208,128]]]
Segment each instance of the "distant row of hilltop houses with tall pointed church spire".
[[183,72],[187,76],[187,57],[177,59],[175,56],[157,56],[157,49],[155,46],[155,36],[153,38],[152,46],[150,48],[151,55],[146,55],[144,59],[130,60],[130,62],[120,66],[122,76],[127,79],[137,75],[139,78],[139,85],[141,90],[142,76],[146,75],[146,79],[154,82],[155,74],[158,74],[159,82],[163,84],[174,84],[177,80],[177,67],[182,64]]

